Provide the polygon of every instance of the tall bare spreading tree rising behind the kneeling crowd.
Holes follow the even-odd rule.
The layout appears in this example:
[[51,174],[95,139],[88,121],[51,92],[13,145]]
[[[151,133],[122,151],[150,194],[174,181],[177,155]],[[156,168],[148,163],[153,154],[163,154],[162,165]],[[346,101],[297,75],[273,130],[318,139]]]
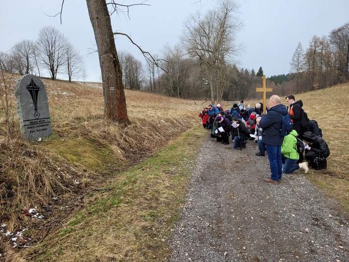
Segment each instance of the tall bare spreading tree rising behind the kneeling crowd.
[[[236,34],[243,24],[238,19],[238,9],[235,1],[221,0],[218,9],[211,10],[204,16],[200,13],[191,15],[184,24],[182,43],[188,53],[198,59],[205,69],[211,87],[212,103],[216,98],[220,99],[217,97],[216,88],[224,87],[217,84],[220,70],[239,50]],[[223,90],[217,93],[220,95]]]

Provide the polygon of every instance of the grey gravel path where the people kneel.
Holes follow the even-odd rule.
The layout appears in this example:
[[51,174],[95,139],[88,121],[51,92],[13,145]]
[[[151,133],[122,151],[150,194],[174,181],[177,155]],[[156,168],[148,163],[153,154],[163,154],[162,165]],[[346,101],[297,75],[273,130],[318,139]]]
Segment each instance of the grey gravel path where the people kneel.
[[268,159],[257,151],[253,141],[240,151],[207,134],[169,260],[349,261],[348,214],[300,170],[264,182]]

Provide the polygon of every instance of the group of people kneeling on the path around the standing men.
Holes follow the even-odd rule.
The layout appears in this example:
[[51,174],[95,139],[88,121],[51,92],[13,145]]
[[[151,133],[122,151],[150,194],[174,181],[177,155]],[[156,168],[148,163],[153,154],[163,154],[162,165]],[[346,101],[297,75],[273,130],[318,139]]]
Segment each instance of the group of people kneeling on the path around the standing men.
[[[211,108],[215,107],[214,105],[210,106]],[[212,138],[216,138],[217,142],[228,145],[229,137],[231,136],[234,142],[233,147],[236,150],[245,148],[247,140],[254,140],[254,143],[258,144],[256,156],[265,156],[266,147],[265,143],[262,141],[263,129],[259,126],[259,121],[261,119],[259,114],[254,111],[249,113],[247,110],[245,113],[243,110],[240,114],[233,116],[230,113],[233,110],[232,108],[228,111],[221,110],[218,113],[212,111],[211,114],[208,115],[210,106],[207,112],[205,111],[206,109],[201,111],[199,117],[207,114],[206,120],[203,120],[202,123],[205,128],[211,130]],[[305,145],[306,162],[303,162],[303,152],[299,153],[296,146],[297,137],[300,137],[297,131],[293,129],[290,134],[285,136],[281,147],[282,161],[284,164],[283,173],[290,174],[300,168],[307,173],[309,170],[308,166],[313,167],[315,159],[322,158],[326,161],[330,151],[327,143],[322,139],[322,133],[319,135],[318,130],[313,130],[315,126],[318,127],[317,123],[313,125],[310,124],[308,130],[301,136]],[[326,168],[326,166],[324,168]]]

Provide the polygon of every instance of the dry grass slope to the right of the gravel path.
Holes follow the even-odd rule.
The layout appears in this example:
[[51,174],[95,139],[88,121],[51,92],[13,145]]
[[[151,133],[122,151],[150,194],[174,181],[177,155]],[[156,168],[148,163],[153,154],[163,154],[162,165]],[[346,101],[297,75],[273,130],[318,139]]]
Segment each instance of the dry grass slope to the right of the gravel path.
[[346,83],[296,96],[296,100],[302,99],[308,117],[319,123],[330,149],[327,169],[310,170],[307,177],[338,200],[346,211],[349,211],[348,90],[349,83]]

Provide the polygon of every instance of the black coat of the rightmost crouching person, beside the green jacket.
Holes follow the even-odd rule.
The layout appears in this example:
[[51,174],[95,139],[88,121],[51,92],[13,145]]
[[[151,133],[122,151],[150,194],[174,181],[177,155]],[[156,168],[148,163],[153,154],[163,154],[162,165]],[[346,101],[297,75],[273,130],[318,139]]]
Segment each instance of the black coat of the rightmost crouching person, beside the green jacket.
[[[305,158],[307,160],[314,159],[316,157],[316,154],[319,155],[319,153],[321,154],[321,156],[323,156],[325,158],[327,158],[329,156],[330,151],[329,151],[327,143],[325,142],[325,140],[323,140],[323,138],[320,138],[309,131],[304,132],[302,138],[304,141],[313,143],[313,144],[309,144],[310,150],[305,151]],[[318,153],[318,151],[319,151],[319,153]]]

